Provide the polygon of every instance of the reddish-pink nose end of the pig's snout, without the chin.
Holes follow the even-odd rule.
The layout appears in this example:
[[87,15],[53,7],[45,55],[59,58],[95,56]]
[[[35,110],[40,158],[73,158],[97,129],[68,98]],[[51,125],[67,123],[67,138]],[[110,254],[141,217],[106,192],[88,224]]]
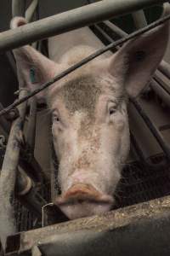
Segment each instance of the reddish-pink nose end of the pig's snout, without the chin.
[[57,197],[55,203],[58,206],[94,203],[94,204],[112,204],[111,195],[100,193],[92,185],[78,183],[68,189],[64,195]]

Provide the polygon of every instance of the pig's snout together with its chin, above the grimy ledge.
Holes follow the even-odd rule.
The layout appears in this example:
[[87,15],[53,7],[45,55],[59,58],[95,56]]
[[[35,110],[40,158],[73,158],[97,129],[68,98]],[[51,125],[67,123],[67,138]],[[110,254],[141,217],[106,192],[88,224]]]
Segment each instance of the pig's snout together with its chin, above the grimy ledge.
[[68,218],[82,218],[109,211],[113,198],[100,193],[92,185],[76,184],[60,195],[55,203]]

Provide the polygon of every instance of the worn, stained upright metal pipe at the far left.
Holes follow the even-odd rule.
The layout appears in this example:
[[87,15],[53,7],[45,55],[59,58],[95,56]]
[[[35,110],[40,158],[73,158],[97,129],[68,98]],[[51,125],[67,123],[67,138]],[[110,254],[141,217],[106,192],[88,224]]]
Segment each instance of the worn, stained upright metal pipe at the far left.
[[[20,98],[26,96],[27,90],[20,90]],[[16,231],[14,208],[12,205],[17,166],[20,157],[21,132],[26,115],[26,102],[20,105],[20,117],[15,119],[8,137],[8,144],[3,160],[0,177],[0,237],[5,245],[6,237]]]

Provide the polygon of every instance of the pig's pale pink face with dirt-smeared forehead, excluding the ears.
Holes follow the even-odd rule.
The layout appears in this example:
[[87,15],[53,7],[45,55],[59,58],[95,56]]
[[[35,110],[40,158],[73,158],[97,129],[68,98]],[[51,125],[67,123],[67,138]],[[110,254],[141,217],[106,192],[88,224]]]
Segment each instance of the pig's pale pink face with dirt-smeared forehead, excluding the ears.
[[69,218],[111,209],[129,149],[127,97],[109,73],[71,77],[54,86],[54,149],[61,195],[55,203]]

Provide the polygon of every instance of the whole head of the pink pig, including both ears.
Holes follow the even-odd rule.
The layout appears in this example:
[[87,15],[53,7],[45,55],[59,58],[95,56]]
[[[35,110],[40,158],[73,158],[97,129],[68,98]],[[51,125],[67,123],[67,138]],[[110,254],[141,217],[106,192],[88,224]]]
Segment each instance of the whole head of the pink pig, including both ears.
[[[155,72],[167,46],[167,30],[167,24],[159,26],[37,95],[52,111],[61,189],[55,203],[69,218],[106,212],[114,204],[129,151],[127,98],[138,96]],[[69,67],[31,46],[14,49],[14,55],[20,86],[31,90]]]

